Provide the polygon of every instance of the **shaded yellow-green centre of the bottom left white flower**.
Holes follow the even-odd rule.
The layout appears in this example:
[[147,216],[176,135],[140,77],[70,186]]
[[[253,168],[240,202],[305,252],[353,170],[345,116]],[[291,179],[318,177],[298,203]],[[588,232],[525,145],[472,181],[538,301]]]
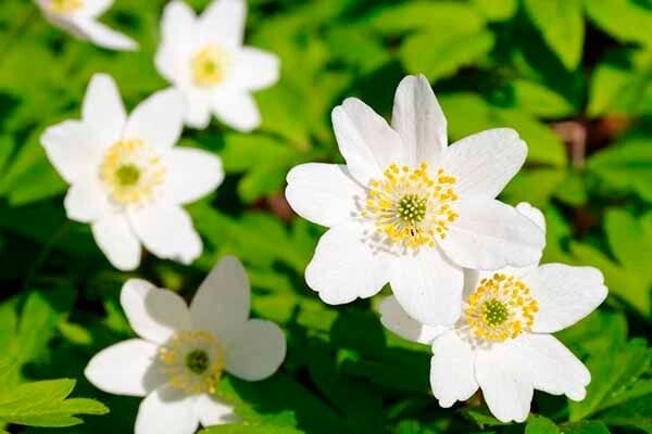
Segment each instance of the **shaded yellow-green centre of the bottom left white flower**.
[[224,348],[210,333],[180,331],[159,348],[159,361],[173,387],[213,394],[224,371]]

